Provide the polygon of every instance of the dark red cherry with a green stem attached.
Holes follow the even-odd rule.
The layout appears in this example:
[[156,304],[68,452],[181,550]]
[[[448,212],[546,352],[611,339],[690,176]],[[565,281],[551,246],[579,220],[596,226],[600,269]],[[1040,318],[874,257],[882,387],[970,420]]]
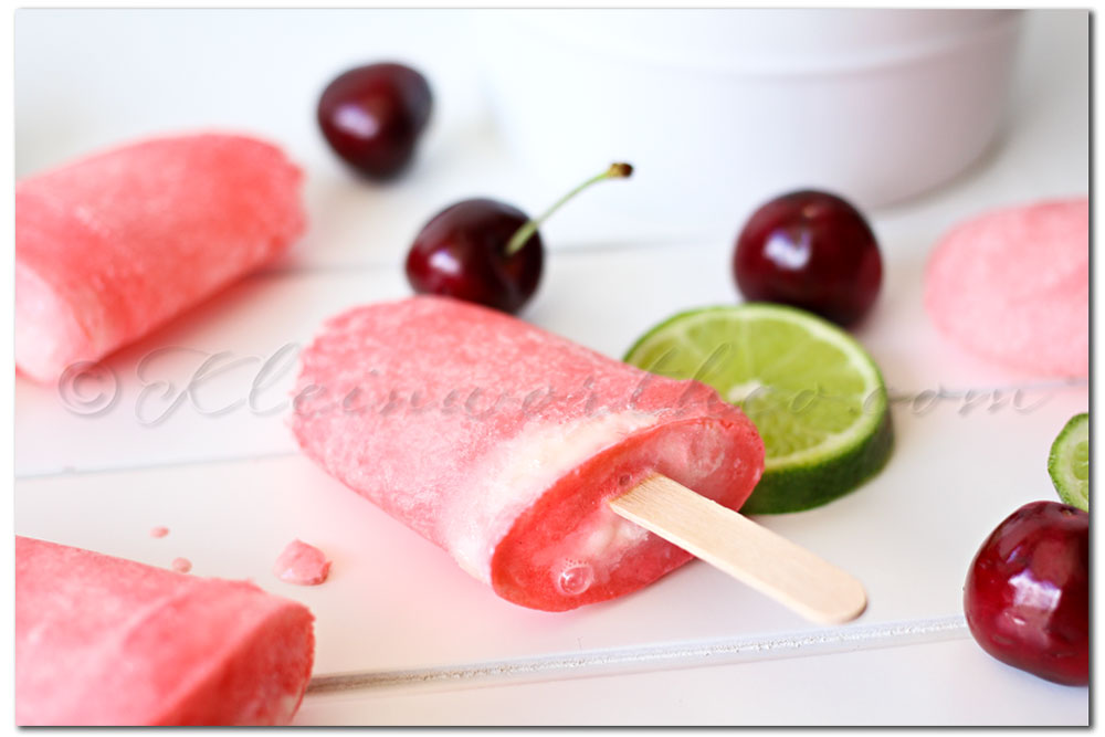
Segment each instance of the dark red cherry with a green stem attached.
[[407,278],[419,294],[438,294],[494,307],[522,309],[537,291],[545,246],[537,229],[587,187],[633,168],[614,164],[560,198],[540,218],[490,199],[463,200],[430,219],[407,254]]

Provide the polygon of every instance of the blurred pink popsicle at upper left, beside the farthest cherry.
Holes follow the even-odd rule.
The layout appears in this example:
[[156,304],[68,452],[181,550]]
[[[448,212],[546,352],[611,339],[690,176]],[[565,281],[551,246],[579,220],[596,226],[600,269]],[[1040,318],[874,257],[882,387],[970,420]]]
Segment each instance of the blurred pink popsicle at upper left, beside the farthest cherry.
[[97,360],[280,255],[302,175],[230,135],[124,146],[15,186],[15,365]]

